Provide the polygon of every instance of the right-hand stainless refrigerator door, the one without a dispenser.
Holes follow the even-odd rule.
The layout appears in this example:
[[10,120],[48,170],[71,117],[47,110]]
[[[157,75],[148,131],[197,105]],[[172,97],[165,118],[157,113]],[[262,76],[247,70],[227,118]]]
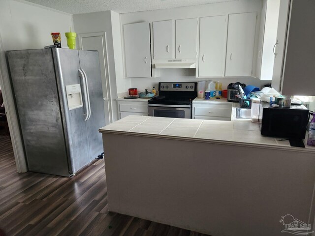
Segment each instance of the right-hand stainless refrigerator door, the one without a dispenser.
[[79,51],[80,66],[87,76],[91,116],[87,120],[91,160],[103,152],[102,135],[98,129],[105,126],[103,92],[98,52]]

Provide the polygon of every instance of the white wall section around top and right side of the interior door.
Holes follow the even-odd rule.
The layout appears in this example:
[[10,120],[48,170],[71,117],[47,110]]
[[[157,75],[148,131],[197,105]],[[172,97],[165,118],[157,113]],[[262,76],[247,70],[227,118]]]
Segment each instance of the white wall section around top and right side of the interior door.
[[130,79],[123,78],[122,52],[118,13],[102,11],[73,15],[76,33],[106,32],[108,72],[114,121],[118,119],[117,93],[131,86]]

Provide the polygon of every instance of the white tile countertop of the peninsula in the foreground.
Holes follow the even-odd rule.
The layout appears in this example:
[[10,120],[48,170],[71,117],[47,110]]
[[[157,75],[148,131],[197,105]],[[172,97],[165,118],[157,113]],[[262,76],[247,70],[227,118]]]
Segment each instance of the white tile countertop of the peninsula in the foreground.
[[315,153],[315,147],[307,146],[306,139],[306,148],[291,147],[288,140],[262,136],[259,125],[251,121],[127,116],[99,132]]

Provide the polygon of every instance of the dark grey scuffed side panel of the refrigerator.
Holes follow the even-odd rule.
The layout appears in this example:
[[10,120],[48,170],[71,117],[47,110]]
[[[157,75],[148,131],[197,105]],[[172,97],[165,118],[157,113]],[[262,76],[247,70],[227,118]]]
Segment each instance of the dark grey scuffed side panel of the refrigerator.
[[7,56],[29,170],[69,176],[51,49]]

